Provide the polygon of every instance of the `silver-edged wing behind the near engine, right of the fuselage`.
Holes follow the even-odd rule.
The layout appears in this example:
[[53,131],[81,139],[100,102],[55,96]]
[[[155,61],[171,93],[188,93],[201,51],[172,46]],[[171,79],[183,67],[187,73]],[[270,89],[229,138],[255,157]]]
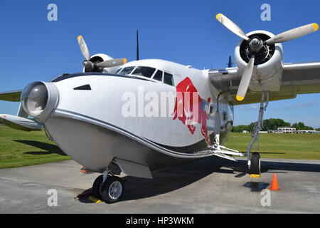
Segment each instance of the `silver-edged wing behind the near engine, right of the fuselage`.
[[[210,82],[220,93],[228,93],[233,105],[260,103],[261,92],[247,91],[245,100],[235,100],[241,76],[238,68],[209,71]],[[320,93],[320,61],[309,63],[284,63],[281,88],[270,92],[270,101],[296,98],[297,94]]]

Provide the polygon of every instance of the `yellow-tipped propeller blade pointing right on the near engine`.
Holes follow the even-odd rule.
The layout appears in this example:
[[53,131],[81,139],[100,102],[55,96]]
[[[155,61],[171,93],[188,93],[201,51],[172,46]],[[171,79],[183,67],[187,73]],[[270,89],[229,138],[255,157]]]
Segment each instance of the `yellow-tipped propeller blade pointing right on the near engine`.
[[274,36],[265,43],[267,44],[274,44],[274,43],[283,43],[286,41],[291,41],[294,38],[299,38],[301,36],[306,36],[310,33],[313,33],[314,31],[317,31],[319,29],[319,25],[316,23],[313,24],[307,24],[306,26],[301,26],[299,28],[293,28],[288,31],[284,31],[283,33],[280,33],[277,36]]

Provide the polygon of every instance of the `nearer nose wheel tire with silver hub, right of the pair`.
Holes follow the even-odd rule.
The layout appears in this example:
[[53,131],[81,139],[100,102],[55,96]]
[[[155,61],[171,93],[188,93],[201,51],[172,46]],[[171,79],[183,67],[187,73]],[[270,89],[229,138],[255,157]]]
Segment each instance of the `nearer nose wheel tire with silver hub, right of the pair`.
[[[114,191],[115,190],[115,191]],[[102,184],[101,197],[107,204],[119,202],[122,193],[124,192],[123,181],[120,177],[110,176]]]

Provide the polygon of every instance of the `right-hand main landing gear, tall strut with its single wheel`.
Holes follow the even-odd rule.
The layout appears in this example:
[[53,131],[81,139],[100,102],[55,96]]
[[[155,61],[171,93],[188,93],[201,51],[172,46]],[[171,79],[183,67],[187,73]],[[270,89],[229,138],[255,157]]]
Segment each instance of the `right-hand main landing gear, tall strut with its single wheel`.
[[[265,101],[265,93],[267,93],[267,99]],[[267,105],[269,103],[269,91],[262,92],[262,98],[260,103],[260,110],[259,110],[259,117],[257,120],[257,123],[255,124],[255,127],[252,131],[252,139],[250,141],[250,144],[247,147],[247,166],[249,169],[249,173],[252,177],[260,177],[261,175],[261,159],[260,154],[257,152],[252,153],[251,155],[251,148],[255,141],[257,141],[257,149],[259,150],[259,132],[263,128],[263,115],[265,111],[267,110]]]

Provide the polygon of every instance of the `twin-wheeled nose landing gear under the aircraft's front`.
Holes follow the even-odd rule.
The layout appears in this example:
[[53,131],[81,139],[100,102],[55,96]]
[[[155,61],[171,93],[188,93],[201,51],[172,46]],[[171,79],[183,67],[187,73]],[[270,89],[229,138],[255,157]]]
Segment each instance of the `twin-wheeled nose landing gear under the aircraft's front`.
[[124,183],[120,177],[110,175],[109,171],[103,172],[95,179],[92,185],[93,196],[101,199],[108,204],[119,202],[122,193],[124,192]]

